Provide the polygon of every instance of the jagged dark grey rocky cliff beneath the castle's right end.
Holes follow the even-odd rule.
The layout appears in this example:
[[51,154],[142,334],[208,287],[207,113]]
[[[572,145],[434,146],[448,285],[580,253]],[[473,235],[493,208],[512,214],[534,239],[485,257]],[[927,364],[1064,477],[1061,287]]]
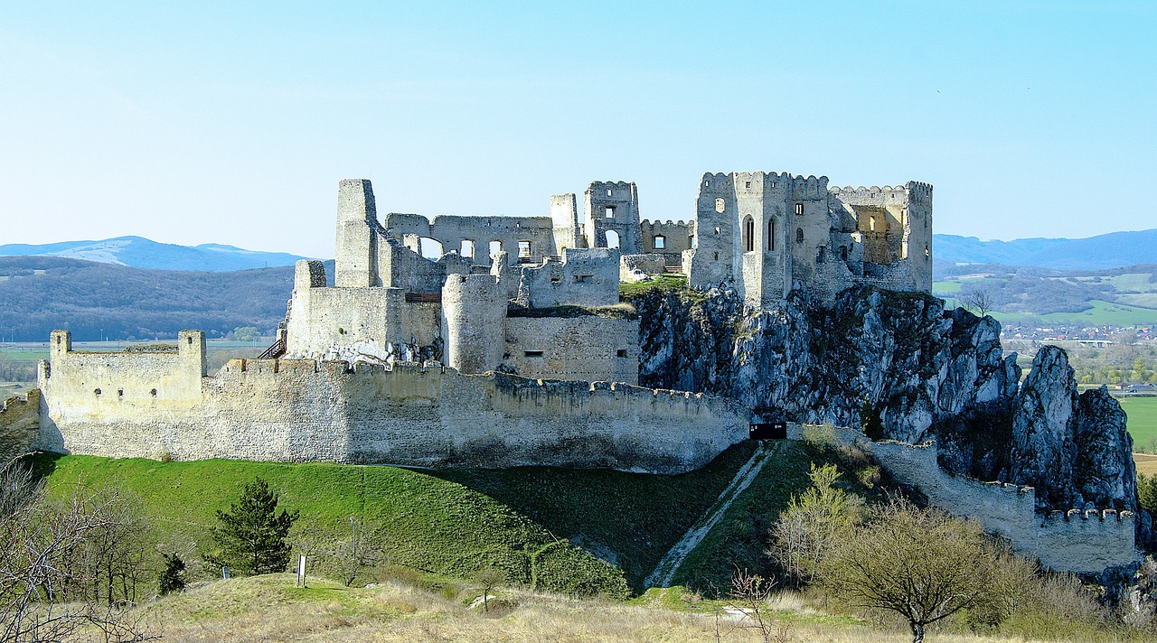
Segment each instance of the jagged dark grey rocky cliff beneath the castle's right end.
[[734,293],[653,289],[639,309],[644,386],[736,398],[767,419],[939,439],[942,466],[1038,488],[1041,509],[1136,509],[1125,414],[1076,392],[1064,352],[1046,347],[1018,389],[1000,324],[935,297],[871,288],[830,306],[796,293],[775,310]]

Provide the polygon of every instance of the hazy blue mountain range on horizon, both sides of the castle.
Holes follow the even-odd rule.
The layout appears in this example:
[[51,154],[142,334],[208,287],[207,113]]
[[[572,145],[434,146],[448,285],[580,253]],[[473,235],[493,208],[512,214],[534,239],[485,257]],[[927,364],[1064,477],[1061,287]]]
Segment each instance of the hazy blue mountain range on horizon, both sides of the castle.
[[[134,268],[229,272],[290,266],[299,254],[244,250],[224,244],[196,246],[159,243],[127,236],[102,241],[0,245],[0,257],[45,256],[116,264]],[[959,235],[933,235],[938,266],[998,264],[1061,271],[1107,269],[1157,264],[1157,229],[1108,232],[1093,237],[980,241]]]

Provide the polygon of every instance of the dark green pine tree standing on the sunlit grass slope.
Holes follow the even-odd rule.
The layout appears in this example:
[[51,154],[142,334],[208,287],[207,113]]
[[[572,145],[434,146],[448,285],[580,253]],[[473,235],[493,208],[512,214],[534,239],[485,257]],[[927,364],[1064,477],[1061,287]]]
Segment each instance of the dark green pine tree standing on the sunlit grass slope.
[[300,516],[285,509],[278,515],[278,494],[260,478],[245,486],[241,502],[229,511],[218,510],[212,535],[219,548],[206,556],[214,564],[228,567],[235,576],[274,574],[289,566],[289,527]]

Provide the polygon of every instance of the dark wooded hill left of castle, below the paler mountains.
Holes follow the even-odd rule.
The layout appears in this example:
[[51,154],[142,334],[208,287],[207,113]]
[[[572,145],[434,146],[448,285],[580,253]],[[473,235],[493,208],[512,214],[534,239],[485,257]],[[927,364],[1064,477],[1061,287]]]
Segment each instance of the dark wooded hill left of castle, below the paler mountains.
[[[326,264],[332,282],[333,261]],[[0,257],[0,333],[46,341],[164,339],[198,328],[209,338],[238,326],[272,334],[293,294],[292,266],[234,272],[142,269],[60,257]]]

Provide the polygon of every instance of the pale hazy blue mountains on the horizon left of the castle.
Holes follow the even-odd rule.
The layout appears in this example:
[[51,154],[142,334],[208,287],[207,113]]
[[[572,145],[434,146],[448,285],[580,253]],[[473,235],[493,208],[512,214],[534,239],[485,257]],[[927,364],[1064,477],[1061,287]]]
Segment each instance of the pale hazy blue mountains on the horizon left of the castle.
[[134,268],[162,271],[227,272],[292,266],[304,259],[286,252],[259,252],[231,245],[197,246],[157,243],[143,237],[116,237],[103,241],[76,241],[43,245],[0,245],[0,257],[42,256],[83,259]]

